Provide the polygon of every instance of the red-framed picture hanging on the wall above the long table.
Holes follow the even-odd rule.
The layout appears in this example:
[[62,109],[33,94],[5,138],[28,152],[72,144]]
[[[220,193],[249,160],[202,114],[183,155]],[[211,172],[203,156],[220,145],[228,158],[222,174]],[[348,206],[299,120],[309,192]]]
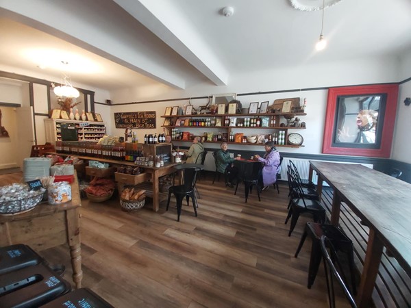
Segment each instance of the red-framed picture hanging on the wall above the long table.
[[329,88],[323,153],[390,157],[398,85]]

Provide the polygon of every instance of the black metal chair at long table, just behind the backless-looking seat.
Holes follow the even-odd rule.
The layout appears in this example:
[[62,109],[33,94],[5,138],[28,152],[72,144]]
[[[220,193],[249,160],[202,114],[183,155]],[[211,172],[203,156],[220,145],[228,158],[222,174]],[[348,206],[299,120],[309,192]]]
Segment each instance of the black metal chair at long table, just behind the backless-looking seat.
[[305,198],[303,188],[301,188],[301,185],[299,185],[297,180],[294,179],[294,176],[290,173],[290,171],[287,171],[287,177],[290,181],[292,181],[293,185],[295,185],[295,190],[293,191],[297,193],[297,198],[291,198],[290,200],[290,209],[288,209],[288,215],[285,222],[285,224],[287,224],[288,220],[291,218],[288,236],[291,235],[297,224],[299,216],[303,213],[312,214],[314,222],[325,222],[325,209],[321,203],[315,199]]

